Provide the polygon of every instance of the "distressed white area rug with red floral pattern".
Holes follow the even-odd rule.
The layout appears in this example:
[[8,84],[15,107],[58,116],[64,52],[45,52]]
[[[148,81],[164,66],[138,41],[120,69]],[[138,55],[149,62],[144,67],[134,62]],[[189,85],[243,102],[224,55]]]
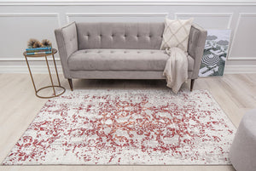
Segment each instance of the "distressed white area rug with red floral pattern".
[[44,105],[3,165],[230,164],[235,133],[207,90],[74,90]]

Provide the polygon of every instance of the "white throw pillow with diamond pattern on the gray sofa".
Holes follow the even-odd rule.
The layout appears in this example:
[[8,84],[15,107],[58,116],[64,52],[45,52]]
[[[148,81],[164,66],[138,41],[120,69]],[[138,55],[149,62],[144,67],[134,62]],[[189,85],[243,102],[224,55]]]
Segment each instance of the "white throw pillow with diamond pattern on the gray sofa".
[[188,50],[189,31],[193,20],[169,20],[166,18],[160,49],[177,47],[186,52]]

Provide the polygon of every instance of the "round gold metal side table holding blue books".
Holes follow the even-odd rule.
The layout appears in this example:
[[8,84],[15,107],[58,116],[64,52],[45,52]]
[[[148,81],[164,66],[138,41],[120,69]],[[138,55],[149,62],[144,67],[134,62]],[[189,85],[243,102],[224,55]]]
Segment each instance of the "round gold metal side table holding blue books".
[[[56,63],[55,63],[55,55],[54,55],[54,54],[56,54],[56,53],[57,53],[57,50],[56,50],[55,48],[52,48],[52,53],[51,53],[51,54],[33,54],[33,55],[27,55],[26,52],[23,53],[23,55],[25,56],[25,59],[26,59],[26,65],[27,65],[27,67],[28,67],[28,71],[29,71],[29,73],[30,73],[30,77],[31,77],[31,79],[32,79],[33,87],[34,87],[34,89],[35,89],[36,95],[37,95],[39,98],[48,99],[48,98],[57,97],[57,96],[59,96],[59,95],[61,95],[61,94],[64,94],[65,91],[66,91],[66,89],[63,88],[63,87],[61,86],[61,83],[60,83],[60,78],[59,78],[58,71],[57,71],[57,67],[56,67]],[[54,85],[53,79],[52,79],[52,76],[51,76],[51,73],[50,73],[50,70],[49,70],[49,63],[48,63],[48,60],[47,60],[47,57],[48,57],[49,55],[52,56],[53,61],[54,61],[55,72],[56,72],[55,74],[56,74],[56,77],[57,77],[57,80],[58,80],[58,83],[59,83],[58,85]],[[45,58],[46,65],[47,65],[48,71],[49,71],[49,79],[50,79],[51,85],[46,86],[46,87],[43,87],[43,88],[39,88],[39,89],[36,88],[36,85],[35,85],[35,83],[34,83],[34,79],[33,79],[33,77],[32,77],[32,71],[31,71],[31,69],[30,69],[30,66],[29,66],[29,63],[28,63],[28,60],[27,60],[27,58],[30,58],[30,57],[33,57],[33,58],[44,57],[44,58]],[[41,90],[44,89],[44,88],[53,88],[53,95],[51,95],[51,96],[41,96],[41,95],[38,95],[38,92],[41,91]],[[61,88],[62,90],[56,93],[55,88]]]

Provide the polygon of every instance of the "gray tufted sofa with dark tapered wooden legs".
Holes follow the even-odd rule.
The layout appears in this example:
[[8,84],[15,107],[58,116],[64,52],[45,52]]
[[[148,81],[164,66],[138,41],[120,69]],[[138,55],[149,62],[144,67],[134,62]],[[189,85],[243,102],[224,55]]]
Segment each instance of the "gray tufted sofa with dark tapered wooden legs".
[[[168,54],[160,50],[164,23],[71,23],[55,30],[64,77],[166,79]],[[189,33],[190,90],[198,77],[207,31],[193,24]]]

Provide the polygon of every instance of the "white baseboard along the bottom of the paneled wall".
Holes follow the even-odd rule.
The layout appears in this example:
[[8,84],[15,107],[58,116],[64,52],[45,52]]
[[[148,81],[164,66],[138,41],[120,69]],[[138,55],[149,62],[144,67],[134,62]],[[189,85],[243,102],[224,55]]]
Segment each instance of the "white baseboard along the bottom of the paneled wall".
[[[32,73],[48,73],[46,66],[31,66]],[[54,66],[50,66],[52,72],[55,71]],[[61,66],[57,66],[59,73],[62,73]],[[27,66],[0,66],[0,73],[29,73]],[[225,74],[238,74],[238,73],[256,73],[256,66],[225,66]]]

